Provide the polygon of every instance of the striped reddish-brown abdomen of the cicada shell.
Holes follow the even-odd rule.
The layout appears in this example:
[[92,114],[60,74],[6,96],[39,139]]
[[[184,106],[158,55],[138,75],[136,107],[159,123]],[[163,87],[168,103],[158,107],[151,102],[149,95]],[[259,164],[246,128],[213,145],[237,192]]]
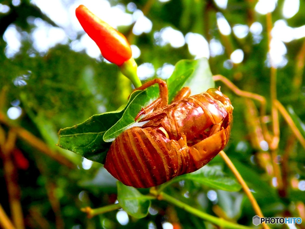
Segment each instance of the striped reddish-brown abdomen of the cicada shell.
[[191,164],[182,139],[169,140],[156,128],[132,127],[113,141],[104,166],[123,184],[146,188],[186,173]]

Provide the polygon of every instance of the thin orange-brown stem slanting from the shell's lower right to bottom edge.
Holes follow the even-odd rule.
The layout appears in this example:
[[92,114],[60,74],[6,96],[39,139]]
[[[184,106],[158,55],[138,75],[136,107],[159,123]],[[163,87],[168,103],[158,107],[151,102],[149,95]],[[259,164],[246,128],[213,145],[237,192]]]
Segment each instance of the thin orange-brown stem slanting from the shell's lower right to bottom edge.
[[[235,168],[235,166],[233,165],[233,163],[231,162],[230,158],[227,156],[227,154],[222,150],[219,152],[220,156],[224,159],[224,161],[226,162],[226,164],[228,165],[228,167],[231,169],[231,171],[233,172],[234,176],[236,177],[236,179],[239,181],[239,184],[242,185],[242,189],[245,191],[246,195],[248,196],[251,205],[253,206],[253,209],[255,211],[255,213],[260,217],[260,218],[264,218],[262,211],[260,210],[260,206],[257,204],[256,199],[254,198],[252,192],[250,191],[248,185],[246,184],[245,180],[242,178],[242,176],[240,175],[240,173],[238,172],[238,170]],[[269,229],[269,226],[265,223],[263,223],[263,227],[265,229]]]

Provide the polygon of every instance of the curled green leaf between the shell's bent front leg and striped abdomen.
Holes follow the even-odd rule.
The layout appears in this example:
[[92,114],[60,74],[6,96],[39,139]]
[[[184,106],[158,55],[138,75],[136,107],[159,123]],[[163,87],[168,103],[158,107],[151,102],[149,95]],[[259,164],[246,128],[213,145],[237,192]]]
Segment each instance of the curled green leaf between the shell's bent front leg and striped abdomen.
[[146,107],[159,97],[158,85],[152,85],[149,88],[138,91],[135,99],[126,107],[122,118],[113,125],[104,134],[105,142],[112,142],[120,133],[133,126],[142,126],[144,123],[135,122],[135,116],[141,111],[142,107]]

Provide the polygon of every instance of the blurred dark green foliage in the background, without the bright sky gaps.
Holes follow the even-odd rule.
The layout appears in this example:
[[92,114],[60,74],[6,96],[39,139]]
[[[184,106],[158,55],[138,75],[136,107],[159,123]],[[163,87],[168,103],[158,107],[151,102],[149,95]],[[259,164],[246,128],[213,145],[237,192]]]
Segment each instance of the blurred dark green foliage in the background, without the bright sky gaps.
[[[283,19],[283,2],[279,0],[272,13],[273,23]],[[56,45],[47,53],[39,53],[34,49],[33,39],[29,35],[35,25],[28,23],[27,18],[37,17],[51,25],[56,26],[56,24],[28,0],[21,1],[18,6],[14,6],[9,0],[1,3],[9,5],[10,11],[0,13],[0,34],[3,35],[9,25],[16,25],[16,29],[22,34],[22,46],[15,56],[8,58],[5,55],[6,42],[3,36],[0,38],[0,144],[4,144],[10,129],[16,126],[22,127],[40,138],[52,151],[56,151],[56,155],[67,158],[75,165],[74,168],[69,168],[61,164],[41,153],[17,134],[14,148],[20,149],[24,156],[23,161],[29,163],[25,170],[19,169],[13,173],[20,187],[20,195],[17,194],[17,199],[20,197],[26,228],[159,229],[164,222],[181,225],[182,228],[187,229],[217,228],[183,209],[158,200],[152,200],[151,209],[146,217],[139,220],[129,216],[129,223],[124,226],[116,218],[117,210],[92,219],[88,219],[79,210],[86,206],[98,208],[113,204],[117,200],[116,182],[101,164],[93,162],[90,169],[84,169],[86,160],[57,147],[55,145],[58,141],[57,132],[61,128],[84,122],[92,115],[117,110],[127,102],[127,97],[131,93],[131,83],[122,78],[117,66],[92,59],[84,51],[71,50],[71,41],[66,45]],[[66,4],[72,3],[73,1],[66,1]],[[127,5],[129,1],[110,3]],[[270,114],[271,71],[266,64],[268,52],[266,16],[254,10],[256,1],[231,0],[226,9],[219,8],[212,0],[171,0],[166,3],[137,0],[134,3],[138,9],[149,9],[146,16],[153,25],[151,32],[139,36],[132,35],[132,26],[121,28],[130,42],[141,50],[140,57],[136,59],[138,65],[152,63],[157,70],[165,63],[175,65],[181,59],[194,59],[186,44],[180,48],[173,48],[170,44],[158,45],[154,33],[167,26],[181,31],[183,35],[188,32],[202,34],[208,42],[212,38],[217,39],[223,45],[224,53],[209,58],[212,73],[224,75],[242,90],[265,96],[267,114]],[[301,0],[298,13],[287,19],[288,25],[303,26],[304,10],[305,1]],[[233,33],[228,36],[221,35],[217,28],[217,12],[224,15],[231,27],[236,24],[251,26],[253,22],[260,22],[263,25],[260,41],[255,42],[251,33],[242,39],[237,38]],[[285,58],[288,62],[277,70],[278,100],[284,107],[289,106],[293,120],[299,129],[303,128],[304,133],[305,85],[302,80],[305,60],[305,51],[302,51],[304,38],[285,45],[288,50]],[[233,64],[230,69],[225,68],[224,62],[230,59],[231,52],[236,49],[243,50],[244,60],[240,64]],[[275,152],[277,161],[272,163],[269,151],[258,150],[250,144],[253,136],[245,128],[250,122],[244,115],[248,112],[245,108],[245,99],[236,96],[221,82],[216,82],[216,86],[220,85],[221,91],[230,98],[234,106],[234,124],[225,152],[232,159],[249,188],[253,190],[253,195],[264,215],[303,217],[301,213],[304,210],[305,192],[301,191],[303,187],[300,187],[300,184],[303,183],[300,181],[305,180],[304,148],[295,139],[290,127],[280,115],[280,142]],[[8,109],[17,106],[22,109],[22,115],[16,120],[9,120],[6,117]],[[258,107],[259,104],[256,106]],[[270,120],[270,116],[268,117]],[[270,123],[268,126],[271,127]],[[1,148],[2,159],[3,155]],[[10,158],[18,167],[16,157],[12,153]],[[0,164],[0,185],[8,187],[4,164]],[[214,158],[209,166],[217,166],[221,168],[221,173],[233,177],[219,156]],[[271,172],[268,168],[271,168]],[[278,172],[285,185],[283,189],[279,189],[276,185],[274,178],[276,168],[280,169]],[[211,190],[217,194],[217,199],[213,201],[207,195]],[[252,217],[255,213],[243,191],[221,191],[193,180],[173,183],[164,191],[203,212],[242,225],[253,226]],[[140,190],[140,192],[147,194],[148,190]],[[7,191],[0,198],[0,203],[8,216],[12,216],[10,198]],[[303,222],[305,222],[304,218]],[[305,226],[302,224],[296,227]]]

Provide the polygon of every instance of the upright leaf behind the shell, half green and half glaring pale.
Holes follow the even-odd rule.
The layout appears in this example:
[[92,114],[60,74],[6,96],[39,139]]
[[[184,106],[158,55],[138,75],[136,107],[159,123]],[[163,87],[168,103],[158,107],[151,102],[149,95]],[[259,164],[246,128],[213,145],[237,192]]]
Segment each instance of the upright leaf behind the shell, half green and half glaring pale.
[[167,86],[168,101],[172,101],[183,86],[190,87],[192,95],[215,87],[208,60],[200,58],[198,60],[178,61],[173,74],[167,80]]

